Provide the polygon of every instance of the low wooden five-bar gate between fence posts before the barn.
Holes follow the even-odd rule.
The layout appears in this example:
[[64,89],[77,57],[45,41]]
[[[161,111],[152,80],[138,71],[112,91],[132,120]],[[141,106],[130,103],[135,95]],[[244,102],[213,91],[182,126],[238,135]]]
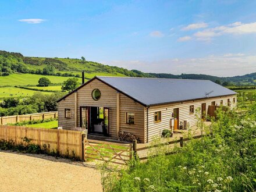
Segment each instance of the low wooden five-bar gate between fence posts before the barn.
[[127,165],[131,159],[132,144],[84,140],[84,161],[98,160]]

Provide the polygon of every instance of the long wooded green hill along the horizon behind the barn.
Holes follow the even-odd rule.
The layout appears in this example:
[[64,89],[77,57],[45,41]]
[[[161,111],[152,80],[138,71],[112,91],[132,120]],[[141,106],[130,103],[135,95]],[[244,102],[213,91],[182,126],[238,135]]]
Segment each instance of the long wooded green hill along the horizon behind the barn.
[[81,77],[81,71],[86,72],[87,79],[95,75],[130,76],[130,77],[158,77],[168,79],[205,79],[219,84],[254,85],[256,73],[234,77],[217,77],[207,74],[167,74],[144,73],[139,70],[128,70],[117,66],[72,58],[38,58],[23,56],[16,52],[0,51],[0,76],[13,73],[44,74],[53,76]]

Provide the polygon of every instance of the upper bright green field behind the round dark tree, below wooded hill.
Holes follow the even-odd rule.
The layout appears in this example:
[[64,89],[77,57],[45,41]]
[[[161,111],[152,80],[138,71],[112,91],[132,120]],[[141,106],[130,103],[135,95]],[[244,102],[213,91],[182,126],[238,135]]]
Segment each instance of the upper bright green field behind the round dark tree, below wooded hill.
[[[41,77],[47,77],[51,83],[63,83],[70,77],[44,76],[40,74],[10,74],[9,76],[0,76],[1,86],[26,86],[38,84]],[[81,81],[81,78],[78,78]]]

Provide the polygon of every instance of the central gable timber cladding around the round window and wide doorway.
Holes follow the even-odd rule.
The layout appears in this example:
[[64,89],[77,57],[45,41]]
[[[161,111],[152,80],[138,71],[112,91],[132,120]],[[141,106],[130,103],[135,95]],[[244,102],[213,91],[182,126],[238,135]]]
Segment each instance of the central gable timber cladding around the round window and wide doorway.
[[[91,97],[91,93],[95,88],[101,91],[101,98],[98,101]],[[109,108],[109,135],[116,137],[116,90],[97,79],[77,90],[77,126],[80,126],[80,106]]]

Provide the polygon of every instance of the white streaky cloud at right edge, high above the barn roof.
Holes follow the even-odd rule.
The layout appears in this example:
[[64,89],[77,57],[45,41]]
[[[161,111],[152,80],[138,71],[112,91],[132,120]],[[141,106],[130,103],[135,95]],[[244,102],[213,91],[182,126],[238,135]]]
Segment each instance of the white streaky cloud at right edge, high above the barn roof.
[[202,31],[198,31],[194,33],[194,37],[197,40],[209,41],[213,37],[218,37],[225,34],[250,34],[256,33],[256,22],[254,23],[241,23],[235,22],[232,24],[228,24],[227,26],[218,26],[214,28],[208,28]]

